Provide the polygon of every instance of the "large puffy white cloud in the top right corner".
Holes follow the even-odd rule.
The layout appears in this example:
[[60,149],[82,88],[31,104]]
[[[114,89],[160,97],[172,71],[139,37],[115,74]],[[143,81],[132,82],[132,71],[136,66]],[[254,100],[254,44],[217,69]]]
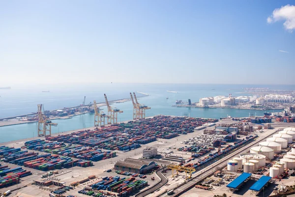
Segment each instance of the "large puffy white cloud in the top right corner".
[[273,10],[272,15],[267,17],[267,23],[284,20],[286,30],[292,32],[295,29],[295,5],[285,5]]

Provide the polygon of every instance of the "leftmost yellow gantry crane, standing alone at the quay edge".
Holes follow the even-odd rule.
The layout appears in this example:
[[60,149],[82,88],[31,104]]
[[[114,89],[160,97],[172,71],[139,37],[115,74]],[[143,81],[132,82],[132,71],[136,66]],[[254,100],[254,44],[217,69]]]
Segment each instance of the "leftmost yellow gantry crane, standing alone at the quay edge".
[[[51,126],[58,124],[52,123],[45,113],[42,113],[42,106],[42,104],[38,104],[38,136],[51,136]],[[49,135],[46,134],[46,131],[49,131]]]

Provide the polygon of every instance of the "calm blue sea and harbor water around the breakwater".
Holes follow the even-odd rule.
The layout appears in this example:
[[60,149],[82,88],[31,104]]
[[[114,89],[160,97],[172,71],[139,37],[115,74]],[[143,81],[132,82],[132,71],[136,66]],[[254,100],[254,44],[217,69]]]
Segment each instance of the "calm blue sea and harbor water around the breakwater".
[[[13,88],[11,90],[0,91],[0,118],[28,114],[37,111],[37,104],[44,104],[45,110],[54,110],[63,107],[78,106],[82,104],[86,96],[86,104],[104,101],[103,94],[106,93],[109,100],[129,98],[130,92],[149,94],[148,97],[139,99],[139,102],[151,107],[146,111],[146,117],[155,115],[176,115],[216,118],[248,117],[249,114],[261,116],[265,111],[243,110],[227,108],[190,108],[173,107],[175,100],[198,102],[200,98],[214,96],[253,96],[243,92],[246,87],[268,87],[270,89],[294,90],[294,86],[269,87],[257,85],[205,85],[205,84],[98,84],[98,85],[77,85],[63,87],[34,87],[34,88]],[[44,89],[46,88],[46,89]],[[42,92],[50,91],[50,92]],[[175,91],[167,92],[167,91]],[[168,97],[168,99],[166,99]],[[122,110],[118,114],[118,122],[132,120],[133,106],[131,101],[124,103],[114,103],[113,106]],[[106,106],[101,107],[107,112]],[[273,110],[271,110],[272,112]],[[281,110],[277,110],[281,111]],[[92,127],[94,124],[94,114],[83,114],[70,119],[58,119],[53,122],[58,123],[57,127],[52,127],[53,133],[84,129]],[[37,135],[37,123],[19,124],[0,127],[0,142],[7,142]]]

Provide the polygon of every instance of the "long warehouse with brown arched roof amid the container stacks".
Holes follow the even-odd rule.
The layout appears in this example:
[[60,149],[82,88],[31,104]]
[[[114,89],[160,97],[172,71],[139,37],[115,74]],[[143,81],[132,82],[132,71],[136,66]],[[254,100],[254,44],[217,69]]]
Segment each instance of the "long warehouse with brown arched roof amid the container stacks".
[[145,174],[148,170],[155,167],[154,162],[148,162],[144,160],[137,160],[127,158],[124,161],[118,161],[115,164],[115,170],[121,170],[126,172]]

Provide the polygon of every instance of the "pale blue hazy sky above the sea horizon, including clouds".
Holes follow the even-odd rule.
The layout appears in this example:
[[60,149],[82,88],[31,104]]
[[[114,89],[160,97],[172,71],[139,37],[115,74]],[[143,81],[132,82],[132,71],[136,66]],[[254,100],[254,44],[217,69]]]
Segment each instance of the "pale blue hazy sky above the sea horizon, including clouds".
[[0,87],[295,84],[292,0],[0,1]]

